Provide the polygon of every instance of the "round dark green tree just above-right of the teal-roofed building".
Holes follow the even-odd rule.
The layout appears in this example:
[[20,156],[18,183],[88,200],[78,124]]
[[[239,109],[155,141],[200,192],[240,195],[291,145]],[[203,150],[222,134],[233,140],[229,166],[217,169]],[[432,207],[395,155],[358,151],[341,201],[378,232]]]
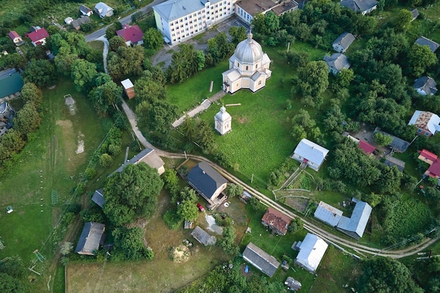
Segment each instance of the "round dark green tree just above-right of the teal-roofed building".
[[23,72],[25,83],[34,83],[39,88],[53,84],[55,77],[55,67],[43,59],[32,60]]

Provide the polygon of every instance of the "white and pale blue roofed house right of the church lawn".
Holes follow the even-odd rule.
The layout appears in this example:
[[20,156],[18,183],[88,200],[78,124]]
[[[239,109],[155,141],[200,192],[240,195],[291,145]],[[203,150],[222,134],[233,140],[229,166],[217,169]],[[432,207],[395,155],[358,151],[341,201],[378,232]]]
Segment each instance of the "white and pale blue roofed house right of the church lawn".
[[304,163],[309,168],[318,171],[323,164],[325,157],[328,154],[328,149],[321,147],[309,139],[301,139],[295,151],[293,151],[292,158],[300,163]]

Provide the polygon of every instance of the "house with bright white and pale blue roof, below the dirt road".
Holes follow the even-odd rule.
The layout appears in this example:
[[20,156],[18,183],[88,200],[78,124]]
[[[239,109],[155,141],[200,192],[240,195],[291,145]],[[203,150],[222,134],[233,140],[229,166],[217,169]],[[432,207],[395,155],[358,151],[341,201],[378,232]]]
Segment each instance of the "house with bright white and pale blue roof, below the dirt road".
[[307,233],[302,242],[297,244],[299,253],[295,259],[295,264],[305,268],[310,273],[316,273],[316,269],[323,259],[328,244],[316,235]]

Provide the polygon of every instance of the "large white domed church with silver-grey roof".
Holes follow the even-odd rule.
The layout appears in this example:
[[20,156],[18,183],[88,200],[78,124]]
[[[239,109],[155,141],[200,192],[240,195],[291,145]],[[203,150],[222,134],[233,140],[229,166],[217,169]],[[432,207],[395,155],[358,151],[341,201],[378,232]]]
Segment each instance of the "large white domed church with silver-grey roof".
[[247,34],[247,39],[238,43],[234,55],[229,58],[229,70],[222,74],[223,90],[235,93],[241,88],[249,88],[256,92],[264,88],[272,74],[269,64],[271,60],[252,39],[252,33]]

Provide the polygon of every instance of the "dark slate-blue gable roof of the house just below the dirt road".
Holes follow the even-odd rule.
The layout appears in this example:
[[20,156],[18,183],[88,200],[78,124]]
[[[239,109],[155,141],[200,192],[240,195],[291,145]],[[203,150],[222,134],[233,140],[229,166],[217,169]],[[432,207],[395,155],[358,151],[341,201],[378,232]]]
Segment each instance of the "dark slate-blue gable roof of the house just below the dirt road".
[[209,199],[212,198],[220,186],[228,182],[225,177],[205,162],[195,165],[186,176],[186,179],[202,196]]

